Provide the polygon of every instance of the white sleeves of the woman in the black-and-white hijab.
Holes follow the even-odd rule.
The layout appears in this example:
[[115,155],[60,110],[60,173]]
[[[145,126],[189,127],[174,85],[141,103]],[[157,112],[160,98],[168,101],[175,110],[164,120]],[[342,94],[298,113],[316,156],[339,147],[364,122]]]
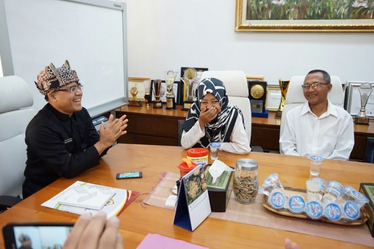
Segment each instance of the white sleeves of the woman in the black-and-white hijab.
[[[240,115],[238,115],[240,117]],[[185,149],[191,148],[201,137],[205,135],[205,131],[200,129],[198,121],[186,132],[182,133],[181,144]],[[245,133],[244,125],[241,118],[237,118],[232,129],[230,142],[221,142],[220,150],[237,153],[248,154],[251,151],[247,133]]]

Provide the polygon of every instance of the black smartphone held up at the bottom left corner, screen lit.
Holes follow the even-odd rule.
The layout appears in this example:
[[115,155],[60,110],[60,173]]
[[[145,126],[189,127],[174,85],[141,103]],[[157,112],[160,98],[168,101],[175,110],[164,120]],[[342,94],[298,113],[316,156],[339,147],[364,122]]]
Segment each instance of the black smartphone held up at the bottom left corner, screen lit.
[[9,223],[2,228],[5,249],[62,248],[74,223]]

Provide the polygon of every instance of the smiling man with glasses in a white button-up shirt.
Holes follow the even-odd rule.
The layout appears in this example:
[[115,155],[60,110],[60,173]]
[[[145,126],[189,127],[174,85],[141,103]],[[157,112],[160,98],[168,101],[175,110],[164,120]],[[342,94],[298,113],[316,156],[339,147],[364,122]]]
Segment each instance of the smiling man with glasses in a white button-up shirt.
[[348,160],[355,143],[353,120],[347,111],[327,99],[332,89],[330,75],[312,70],[301,87],[308,102],[287,113],[279,139],[280,152]]

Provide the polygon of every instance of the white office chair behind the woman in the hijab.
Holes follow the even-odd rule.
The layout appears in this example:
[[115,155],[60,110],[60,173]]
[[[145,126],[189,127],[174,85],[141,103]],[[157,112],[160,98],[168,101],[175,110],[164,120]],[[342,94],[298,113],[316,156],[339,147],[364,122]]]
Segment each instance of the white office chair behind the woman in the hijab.
[[236,105],[243,113],[245,132],[251,142],[251,103],[248,99],[248,83],[243,71],[205,71],[201,80],[205,78],[216,78],[223,82],[228,96],[228,102]]

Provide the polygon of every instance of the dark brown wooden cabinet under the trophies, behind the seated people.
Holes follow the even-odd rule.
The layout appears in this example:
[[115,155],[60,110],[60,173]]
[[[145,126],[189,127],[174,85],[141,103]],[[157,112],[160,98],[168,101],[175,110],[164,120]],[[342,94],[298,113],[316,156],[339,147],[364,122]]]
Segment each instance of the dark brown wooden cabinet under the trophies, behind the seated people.
[[[116,110],[117,117],[124,114],[129,120],[127,134],[118,139],[119,143],[175,145],[178,146],[178,120],[185,120],[187,112],[181,110],[153,109],[146,107],[122,107]],[[265,152],[279,151],[280,119],[252,118],[251,145],[261,146]],[[351,159],[364,158],[367,137],[374,137],[374,121],[370,125],[355,124],[355,146]]]

